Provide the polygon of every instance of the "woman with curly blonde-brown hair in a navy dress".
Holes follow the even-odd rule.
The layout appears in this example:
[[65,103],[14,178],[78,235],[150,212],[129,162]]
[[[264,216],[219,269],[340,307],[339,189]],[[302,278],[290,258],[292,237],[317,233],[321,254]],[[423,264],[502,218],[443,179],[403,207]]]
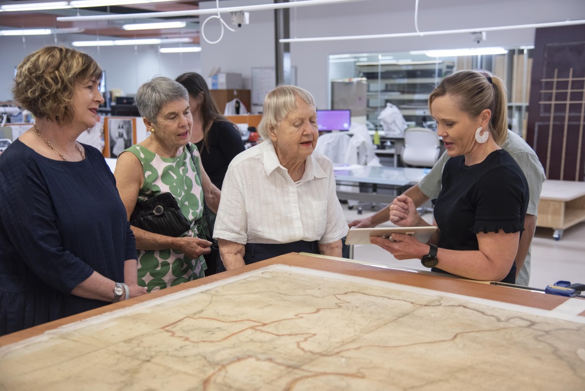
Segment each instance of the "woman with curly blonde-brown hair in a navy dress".
[[113,174],[76,141],[99,122],[101,74],[57,46],[17,68],[14,98],[36,122],[0,156],[0,335],[146,293]]

